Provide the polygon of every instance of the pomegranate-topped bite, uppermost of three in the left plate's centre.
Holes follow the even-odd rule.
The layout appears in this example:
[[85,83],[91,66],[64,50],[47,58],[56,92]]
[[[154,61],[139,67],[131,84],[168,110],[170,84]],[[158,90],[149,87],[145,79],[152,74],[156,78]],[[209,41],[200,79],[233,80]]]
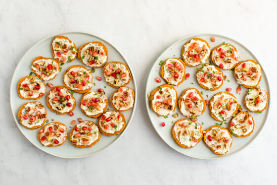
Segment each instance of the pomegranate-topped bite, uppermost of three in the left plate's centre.
[[63,84],[69,90],[86,93],[92,88],[92,72],[82,65],[73,65],[65,71]]

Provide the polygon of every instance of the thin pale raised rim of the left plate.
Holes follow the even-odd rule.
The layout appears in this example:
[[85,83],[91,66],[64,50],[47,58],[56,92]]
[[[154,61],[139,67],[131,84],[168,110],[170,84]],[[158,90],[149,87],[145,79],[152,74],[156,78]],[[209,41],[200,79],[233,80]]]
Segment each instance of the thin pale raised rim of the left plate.
[[61,157],[59,155],[55,155],[55,154],[51,154],[47,151],[45,151],[43,148],[39,148],[38,146],[36,146],[31,140],[29,140],[29,138],[23,133],[23,131],[21,130],[21,127],[19,126],[19,124],[17,124],[17,118],[16,118],[16,115],[17,114],[14,114],[13,110],[12,110],[12,107],[11,107],[11,91],[12,91],[12,84],[10,85],[10,91],[9,91],[9,105],[10,105],[10,109],[11,109],[11,112],[12,112],[12,116],[13,116],[13,119],[15,121],[15,124],[16,126],[18,127],[18,129],[20,130],[20,132],[25,136],[25,138],[31,142],[35,147],[37,147],[38,149],[42,150],[43,152],[47,153],[47,154],[50,154],[52,156],[55,156],[55,157],[59,157],[59,158],[63,158],[63,159],[79,159],[79,158],[85,158],[85,157],[89,157],[89,156],[92,156],[94,154],[97,154],[101,151],[103,151],[104,149],[108,148],[109,146],[111,146],[115,141],[117,141],[127,130],[127,128],[129,127],[129,125],[131,124],[133,118],[134,118],[134,115],[135,115],[135,112],[136,112],[136,108],[137,108],[137,94],[138,94],[138,91],[137,91],[137,83],[136,83],[136,79],[135,79],[135,75],[134,75],[134,72],[133,72],[133,69],[130,65],[130,63],[128,62],[128,60],[124,57],[124,55],[113,45],[111,44],[110,42],[106,41],[105,39],[102,39],[101,37],[98,37],[98,36],[95,36],[91,33],[88,33],[88,32],[82,32],[82,31],[69,31],[69,32],[59,32],[59,33],[56,33],[56,34],[52,34],[52,35],[49,35],[49,36],[46,36],[44,37],[43,39],[39,40],[38,42],[36,42],[32,47],[30,47],[25,53],[24,55],[21,57],[21,59],[19,60],[19,62],[16,64],[16,67],[14,68],[14,71],[13,71],[13,75],[12,75],[12,78],[11,78],[11,82],[14,80],[14,77],[15,77],[15,70],[17,69],[18,67],[18,64],[22,61],[22,59],[27,55],[27,53],[29,53],[29,51],[31,49],[33,49],[35,47],[35,45],[37,44],[40,44],[42,42],[44,42],[45,40],[49,39],[49,38],[52,38],[52,37],[55,37],[55,36],[58,36],[58,35],[65,35],[65,34],[74,34],[74,33],[78,33],[78,34],[86,34],[86,35],[90,35],[92,37],[95,37],[97,39],[101,39],[102,41],[106,42],[107,44],[111,45],[121,56],[122,58],[126,61],[130,71],[131,71],[131,74],[132,74],[132,78],[134,80],[134,85],[135,85],[135,103],[134,103],[134,106],[133,106],[133,109],[132,109],[132,114],[131,114],[131,118],[128,122],[128,124],[125,126],[124,130],[121,132],[121,134],[114,140],[112,141],[108,146],[96,151],[96,152],[93,152],[91,154],[87,154],[87,155],[83,155],[83,156],[76,156],[76,157]]

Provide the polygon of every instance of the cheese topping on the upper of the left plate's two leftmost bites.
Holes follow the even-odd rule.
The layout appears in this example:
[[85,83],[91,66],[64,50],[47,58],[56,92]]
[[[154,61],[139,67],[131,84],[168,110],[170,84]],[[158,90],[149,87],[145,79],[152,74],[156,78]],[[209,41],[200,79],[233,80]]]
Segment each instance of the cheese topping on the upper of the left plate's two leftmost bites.
[[[27,87],[24,87],[24,84],[27,84]],[[36,89],[35,86],[40,86],[40,89]],[[32,96],[30,96],[30,91],[33,93]],[[24,98],[38,98],[41,93],[45,94],[46,86],[37,76],[30,76],[20,83],[19,92]]]

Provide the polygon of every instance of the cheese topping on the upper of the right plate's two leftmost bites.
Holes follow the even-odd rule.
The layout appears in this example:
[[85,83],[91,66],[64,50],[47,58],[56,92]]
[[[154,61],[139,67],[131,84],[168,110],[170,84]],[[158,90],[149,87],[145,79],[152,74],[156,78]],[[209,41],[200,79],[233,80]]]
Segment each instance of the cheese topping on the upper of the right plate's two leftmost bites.
[[[176,63],[178,64],[176,65]],[[163,78],[166,79],[168,83],[171,83],[172,85],[177,85],[183,79],[185,73],[184,69],[184,65],[177,59],[168,59],[163,66]],[[177,78],[174,77],[175,74],[178,74]]]

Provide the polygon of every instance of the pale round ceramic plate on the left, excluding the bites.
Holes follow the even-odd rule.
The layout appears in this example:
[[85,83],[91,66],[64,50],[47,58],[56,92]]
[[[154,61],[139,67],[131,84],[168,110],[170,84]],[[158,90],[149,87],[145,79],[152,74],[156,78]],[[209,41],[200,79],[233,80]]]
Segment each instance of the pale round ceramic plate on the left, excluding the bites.
[[[62,34],[57,34],[57,35],[53,35],[50,37],[47,37],[43,40],[41,40],[40,42],[38,42],[37,44],[35,44],[32,48],[30,48],[26,54],[22,57],[22,59],[20,60],[20,62],[18,63],[13,77],[12,77],[12,81],[11,81],[11,86],[10,86],[10,106],[11,106],[11,110],[12,110],[12,114],[14,117],[14,120],[16,122],[16,125],[18,126],[18,128],[20,129],[20,131],[23,133],[23,135],[31,142],[33,143],[36,147],[38,147],[39,149],[45,151],[48,154],[57,156],[57,157],[62,157],[62,158],[81,158],[81,157],[86,157],[92,154],[95,154],[103,149],[105,149],[106,147],[108,147],[109,145],[111,145],[115,140],[117,140],[127,129],[127,127],[129,126],[129,124],[132,121],[134,112],[135,112],[135,108],[136,108],[136,101],[135,101],[135,105],[133,107],[133,109],[129,110],[129,111],[125,111],[122,112],[126,118],[126,127],[125,129],[119,133],[118,135],[114,135],[114,136],[105,136],[103,134],[101,134],[101,138],[99,140],[98,143],[96,143],[95,145],[93,145],[92,147],[89,148],[77,148],[74,147],[69,138],[65,141],[65,143],[61,146],[58,147],[45,147],[43,146],[40,141],[38,140],[38,131],[40,128],[35,129],[35,130],[29,130],[26,129],[25,127],[23,127],[19,121],[18,121],[18,110],[19,108],[26,102],[32,102],[32,101],[39,101],[41,102],[47,110],[47,119],[49,120],[49,123],[52,122],[52,118],[54,119],[54,122],[62,122],[66,125],[67,129],[68,129],[68,133],[70,134],[70,131],[72,129],[72,127],[74,126],[74,124],[71,124],[72,120],[76,120],[76,124],[79,123],[77,121],[78,118],[82,118],[83,121],[85,120],[91,120],[94,123],[97,123],[96,119],[92,119],[90,117],[87,117],[86,115],[84,115],[80,109],[80,101],[81,101],[81,97],[83,96],[83,94],[79,94],[79,93],[74,93],[73,96],[76,99],[76,107],[73,111],[74,116],[70,117],[68,114],[66,115],[57,115],[56,113],[53,113],[52,111],[50,111],[50,109],[47,107],[46,105],[46,95],[47,93],[50,91],[49,87],[46,87],[46,95],[44,97],[42,97],[39,100],[25,100],[22,99],[18,96],[17,93],[17,83],[18,81],[24,77],[24,76],[28,76],[29,73],[31,72],[31,63],[32,61],[38,57],[38,56],[43,56],[46,58],[53,58],[52,53],[51,53],[51,48],[50,45],[52,43],[52,39],[55,36],[66,36],[68,37],[70,40],[72,40],[77,48],[79,49],[83,44],[86,44],[90,41],[99,41],[101,43],[103,43],[107,49],[108,49],[108,62],[112,62],[112,61],[119,61],[119,62],[123,62],[125,63],[131,73],[132,73],[132,79],[130,81],[130,83],[127,85],[128,87],[131,87],[134,91],[135,91],[135,100],[137,100],[137,87],[136,87],[136,82],[135,82],[135,78],[133,75],[133,71],[131,66],[129,65],[129,63],[127,62],[127,60],[123,57],[123,55],[110,43],[108,43],[107,41],[93,36],[91,34],[87,34],[87,33],[80,33],[80,32],[69,32],[69,33],[62,33]],[[62,69],[61,71],[57,74],[57,76],[49,81],[45,81],[45,84],[48,83],[52,83],[54,86],[56,85],[63,85],[63,74],[66,71],[67,68],[69,68],[72,65],[84,65],[82,62],[80,62],[78,60],[78,57],[73,61],[73,62],[66,62],[64,65],[61,65]],[[85,66],[85,65],[84,65]],[[91,69],[90,67],[87,67],[88,69]],[[34,74],[33,74],[34,75]],[[109,106],[107,110],[113,110],[112,106],[110,105],[110,97],[112,95],[112,93],[116,90],[115,88],[112,88],[111,86],[109,86],[104,78],[103,75],[103,67],[101,68],[95,68],[95,72],[92,73],[93,76],[93,80],[92,82],[94,82],[91,91],[97,91],[99,88],[104,89],[106,96],[108,97],[109,100]],[[102,80],[98,81],[95,79],[96,76],[101,76]]]

